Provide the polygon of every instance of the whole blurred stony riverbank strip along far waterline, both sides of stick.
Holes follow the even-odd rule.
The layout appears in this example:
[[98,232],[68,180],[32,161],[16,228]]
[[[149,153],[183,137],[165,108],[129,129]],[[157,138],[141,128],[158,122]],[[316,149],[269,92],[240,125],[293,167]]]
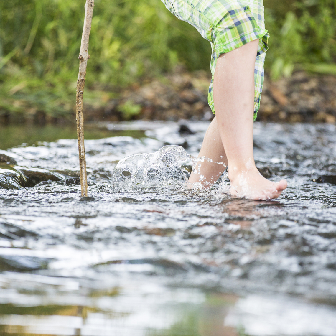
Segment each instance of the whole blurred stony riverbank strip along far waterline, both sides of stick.
[[[125,89],[86,89],[85,120],[211,120],[213,114],[207,103],[210,80],[205,71],[191,73],[180,69],[164,77],[144,79]],[[275,82],[265,76],[257,120],[335,123],[335,97],[335,76],[299,71]],[[18,106],[23,102],[15,100],[12,104]],[[71,124],[74,118],[74,106],[62,117],[30,107],[25,113],[3,113],[0,123]]]

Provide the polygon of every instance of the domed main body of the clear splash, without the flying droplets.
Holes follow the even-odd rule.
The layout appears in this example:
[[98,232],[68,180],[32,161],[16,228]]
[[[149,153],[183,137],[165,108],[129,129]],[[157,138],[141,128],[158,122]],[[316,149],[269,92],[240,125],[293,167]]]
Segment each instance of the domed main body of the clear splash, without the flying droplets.
[[191,159],[181,146],[164,146],[155,153],[126,157],[113,170],[114,192],[183,188],[187,180],[181,164]]

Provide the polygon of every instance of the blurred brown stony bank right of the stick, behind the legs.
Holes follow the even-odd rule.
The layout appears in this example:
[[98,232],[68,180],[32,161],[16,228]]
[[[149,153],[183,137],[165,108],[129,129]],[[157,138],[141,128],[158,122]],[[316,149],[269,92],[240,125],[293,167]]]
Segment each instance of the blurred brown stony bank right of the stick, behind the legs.
[[[207,103],[209,82],[205,72],[153,80],[125,90],[120,98],[110,100],[104,107],[87,107],[86,119],[209,120],[213,118]],[[132,105],[138,107],[138,113],[133,115]],[[276,82],[265,77],[258,120],[335,123],[336,77],[305,72]]]

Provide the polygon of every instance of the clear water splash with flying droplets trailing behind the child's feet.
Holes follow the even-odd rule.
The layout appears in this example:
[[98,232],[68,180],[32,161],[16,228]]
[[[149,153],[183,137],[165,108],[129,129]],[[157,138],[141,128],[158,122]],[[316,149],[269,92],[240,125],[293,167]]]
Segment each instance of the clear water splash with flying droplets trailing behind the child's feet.
[[[187,154],[183,147],[167,145],[155,153],[134,154],[119,161],[112,173],[113,190],[116,193],[157,191],[159,189],[204,189],[213,186],[200,173],[201,162],[214,162],[205,156],[195,158]],[[227,177],[225,164],[223,174],[217,174],[217,192],[226,192],[227,187],[221,180]],[[193,171],[199,175],[199,182],[189,183],[187,178]]]

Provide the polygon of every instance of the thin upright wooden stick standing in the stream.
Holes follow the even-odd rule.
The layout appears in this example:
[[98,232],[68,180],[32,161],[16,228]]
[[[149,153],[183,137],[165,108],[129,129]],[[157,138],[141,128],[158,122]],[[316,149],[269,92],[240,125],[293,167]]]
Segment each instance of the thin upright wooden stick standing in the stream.
[[85,17],[84,17],[81,49],[79,51],[78,56],[79,73],[76,88],[76,123],[77,123],[78,154],[79,154],[79,172],[80,172],[82,196],[87,196],[86,160],[85,160],[85,148],[84,148],[83,91],[85,84],[86,64],[87,60],[90,58],[88,48],[89,48],[89,35],[91,30],[93,7],[94,7],[94,0],[86,0],[84,6]]

